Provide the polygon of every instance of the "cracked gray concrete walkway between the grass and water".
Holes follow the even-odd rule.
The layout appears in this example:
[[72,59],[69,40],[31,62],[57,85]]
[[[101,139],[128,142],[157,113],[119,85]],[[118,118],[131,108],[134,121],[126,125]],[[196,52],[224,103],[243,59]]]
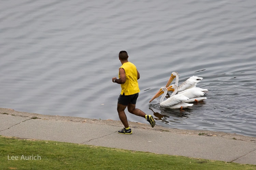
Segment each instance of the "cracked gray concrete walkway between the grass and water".
[[[164,128],[129,122],[131,135],[118,134],[120,121],[50,116],[0,108],[0,135],[82,143],[256,165],[256,137]],[[156,122],[157,124],[157,122]],[[203,135],[198,135],[203,134]]]

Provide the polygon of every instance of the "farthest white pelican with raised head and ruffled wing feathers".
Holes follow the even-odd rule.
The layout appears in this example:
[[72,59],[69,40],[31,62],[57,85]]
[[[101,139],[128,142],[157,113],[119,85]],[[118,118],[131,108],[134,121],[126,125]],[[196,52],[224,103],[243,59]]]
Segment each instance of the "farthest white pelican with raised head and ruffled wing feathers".
[[[192,77],[188,78],[185,82],[183,82],[180,86],[178,86],[179,74],[177,72],[172,72],[171,77],[166,84],[166,87],[168,87],[171,84],[171,82],[173,81],[174,78],[175,78],[175,85],[178,87],[177,92],[196,87],[197,83],[203,79],[202,77],[197,77],[197,76],[193,75]],[[208,91],[208,90],[206,89],[206,91]]]

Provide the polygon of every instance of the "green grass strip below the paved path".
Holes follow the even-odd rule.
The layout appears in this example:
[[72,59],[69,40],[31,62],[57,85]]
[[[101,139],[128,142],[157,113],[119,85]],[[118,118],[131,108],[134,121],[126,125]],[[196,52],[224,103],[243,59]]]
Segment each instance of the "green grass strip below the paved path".
[[[24,158],[33,155],[35,159],[39,158],[39,160],[34,158],[34,160],[24,160],[22,155]],[[8,160],[12,156],[13,158],[16,156],[18,160]],[[0,169],[246,170],[256,169],[256,166],[66,142],[0,136]]]

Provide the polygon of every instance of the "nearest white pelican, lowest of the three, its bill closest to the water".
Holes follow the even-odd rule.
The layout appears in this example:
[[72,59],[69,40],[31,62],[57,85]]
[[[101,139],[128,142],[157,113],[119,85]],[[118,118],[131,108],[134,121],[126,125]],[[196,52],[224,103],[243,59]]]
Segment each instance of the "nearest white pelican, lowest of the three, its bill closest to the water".
[[[175,86],[175,85],[174,85]],[[177,86],[176,86],[177,87]],[[166,107],[166,108],[187,108],[189,106],[193,106],[193,104],[191,103],[185,103],[184,101],[189,100],[188,97],[184,96],[183,94],[176,94],[175,89],[177,88],[172,88],[172,86],[169,86],[168,88],[166,87],[161,87],[161,89],[157,92],[157,94],[150,100],[150,102],[152,100],[154,100],[155,98],[159,97],[160,95],[163,94],[163,96],[161,97],[159,103],[160,106],[162,107]],[[173,91],[173,93],[171,94],[170,98],[166,99],[165,101],[163,101],[163,99],[165,98],[167,91]]]

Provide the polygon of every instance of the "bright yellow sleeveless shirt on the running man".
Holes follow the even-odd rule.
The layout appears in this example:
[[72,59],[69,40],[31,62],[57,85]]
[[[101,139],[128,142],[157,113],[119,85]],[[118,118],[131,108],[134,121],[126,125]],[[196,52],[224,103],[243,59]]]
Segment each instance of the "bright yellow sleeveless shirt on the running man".
[[[139,84],[138,84],[138,74],[137,68],[131,62],[124,63],[120,68],[125,70],[126,81],[124,84],[121,84],[121,95],[125,93],[125,95],[133,95],[140,92]],[[119,79],[120,79],[120,75]]]

